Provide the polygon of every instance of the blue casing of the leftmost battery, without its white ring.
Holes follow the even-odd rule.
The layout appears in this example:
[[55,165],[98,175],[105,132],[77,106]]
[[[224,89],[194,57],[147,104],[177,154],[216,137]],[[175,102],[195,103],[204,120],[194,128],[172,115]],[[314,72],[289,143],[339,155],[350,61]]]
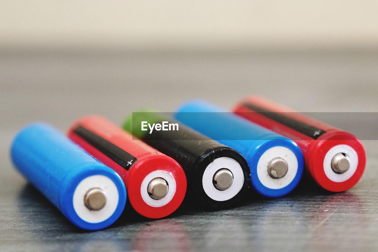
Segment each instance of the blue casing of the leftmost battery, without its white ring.
[[[103,229],[124,210],[126,189],[121,177],[48,124],[34,123],[23,128],[12,142],[11,159],[17,170],[77,227]],[[73,206],[76,186],[92,175],[108,177],[118,190],[115,211],[97,223],[84,221]]]

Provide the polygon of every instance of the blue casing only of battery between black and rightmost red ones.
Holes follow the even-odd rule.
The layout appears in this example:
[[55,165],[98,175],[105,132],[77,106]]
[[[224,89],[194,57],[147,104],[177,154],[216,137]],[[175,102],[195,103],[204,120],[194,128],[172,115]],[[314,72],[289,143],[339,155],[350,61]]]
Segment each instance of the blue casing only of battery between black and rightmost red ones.
[[[301,149],[293,140],[204,101],[184,103],[176,111],[174,117],[186,126],[239,151],[245,157],[251,170],[253,188],[263,196],[271,198],[284,196],[298,185],[303,173],[304,159]],[[257,163],[260,157],[267,149],[274,146],[290,149],[298,162],[294,179],[290,184],[279,189],[264,186],[257,176]]]

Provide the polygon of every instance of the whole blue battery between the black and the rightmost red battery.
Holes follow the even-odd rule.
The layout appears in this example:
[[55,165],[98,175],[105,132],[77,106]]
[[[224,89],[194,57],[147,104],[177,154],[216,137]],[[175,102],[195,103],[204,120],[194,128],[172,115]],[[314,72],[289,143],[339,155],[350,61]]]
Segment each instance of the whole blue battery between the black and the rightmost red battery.
[[263,196],[284,196],[298,185],[304,159],[293,140],[204,101],[184,103],[174,117],[239,151],[251,170],[253,188]]

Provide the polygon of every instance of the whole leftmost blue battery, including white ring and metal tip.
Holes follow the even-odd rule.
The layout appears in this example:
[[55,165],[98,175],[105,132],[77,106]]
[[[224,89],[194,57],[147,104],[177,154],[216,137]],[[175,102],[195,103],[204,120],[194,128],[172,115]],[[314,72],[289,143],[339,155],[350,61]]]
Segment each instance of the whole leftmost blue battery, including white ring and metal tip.
[[125,208],[126,190],[119,175],[48,124],[22,129],[12,142],[11,159],[77,227],[103,229]]

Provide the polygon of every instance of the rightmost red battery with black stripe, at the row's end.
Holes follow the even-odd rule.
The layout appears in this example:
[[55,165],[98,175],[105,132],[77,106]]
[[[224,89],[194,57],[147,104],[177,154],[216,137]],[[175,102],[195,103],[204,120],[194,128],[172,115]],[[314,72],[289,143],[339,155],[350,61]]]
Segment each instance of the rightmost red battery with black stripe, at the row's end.
[[308,174],[325,190],[348,190],[364,172],[364,146],[349,132],[259,96],[241,101],[233,111],[253,123],[296,141],[304,154]]

